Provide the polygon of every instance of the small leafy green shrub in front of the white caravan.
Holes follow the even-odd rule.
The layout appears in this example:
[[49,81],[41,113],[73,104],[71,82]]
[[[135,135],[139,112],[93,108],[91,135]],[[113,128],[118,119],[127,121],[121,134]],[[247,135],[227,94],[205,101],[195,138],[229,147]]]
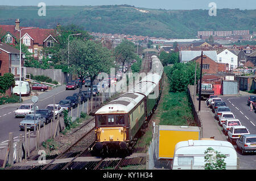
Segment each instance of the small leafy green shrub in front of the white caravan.
[[221,154],[213,148],[208,148],[204,151],[205,170],[226,170],[225,158],[226,155]]

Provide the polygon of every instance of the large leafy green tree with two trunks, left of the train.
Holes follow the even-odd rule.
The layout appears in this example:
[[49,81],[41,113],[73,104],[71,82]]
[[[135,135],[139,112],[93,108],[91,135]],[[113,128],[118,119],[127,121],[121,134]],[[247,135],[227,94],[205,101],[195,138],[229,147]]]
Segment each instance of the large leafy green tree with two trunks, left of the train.
[[[110,68],[114,66],[112,52],[90,40],[74,39],[71,41],[69,45],[69,62],[67,59],[68,48],[60,49],[59,54],[61,54],[61,62],[69,65],[69,71],[77,74],[81,80],[85,77],[90,77],[90,81],[93,82],[99,73],[110,73]],[[91,84],[91,95],[92,86]],[[80,85],[79,89],[79,101],[81,100],[81,91],[82,85]]]

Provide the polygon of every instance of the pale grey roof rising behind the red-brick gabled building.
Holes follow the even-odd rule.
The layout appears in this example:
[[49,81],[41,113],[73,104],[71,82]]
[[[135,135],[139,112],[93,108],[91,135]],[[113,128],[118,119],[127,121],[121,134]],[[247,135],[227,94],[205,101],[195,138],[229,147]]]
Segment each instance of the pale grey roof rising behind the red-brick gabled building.
[[[193,60],[194,58],[201,56],[201,50],[181,50],[180,51],[180,62],[187,63],[188,61]],[[203,51],[203,54],[208,56],[213,61],[217,62],[217,53],[215,50],[206,50]]]

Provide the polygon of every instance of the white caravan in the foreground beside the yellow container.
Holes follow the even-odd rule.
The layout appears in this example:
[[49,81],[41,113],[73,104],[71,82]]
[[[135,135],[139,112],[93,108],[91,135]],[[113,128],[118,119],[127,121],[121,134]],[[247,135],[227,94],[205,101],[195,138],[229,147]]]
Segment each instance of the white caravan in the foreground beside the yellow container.
[[180,141],[175,146],[172,170],[204,170],[204,152],[208,148],[226,155],[226,170],[237,170],[237,152],[228,141],[188,140]]

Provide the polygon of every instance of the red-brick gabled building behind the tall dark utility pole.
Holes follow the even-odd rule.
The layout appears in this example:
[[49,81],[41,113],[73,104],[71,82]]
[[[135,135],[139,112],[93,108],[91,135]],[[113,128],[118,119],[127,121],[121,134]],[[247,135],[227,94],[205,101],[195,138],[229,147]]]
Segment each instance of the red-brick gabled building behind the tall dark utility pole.
[[[201,66],[201,55],[193,58],[191,61],[196,61]],[[228,64],[218,63],[207,55],[203,54],[203,68],[202,73],[206,74],[218,74],[228,72]]]

